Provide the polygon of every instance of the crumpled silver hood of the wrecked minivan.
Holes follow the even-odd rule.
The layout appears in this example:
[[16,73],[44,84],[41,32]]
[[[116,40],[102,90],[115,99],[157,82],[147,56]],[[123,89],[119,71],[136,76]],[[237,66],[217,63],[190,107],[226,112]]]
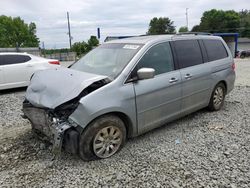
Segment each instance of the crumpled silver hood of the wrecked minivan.
[[68,68],[36,72],[26,91],[26,99],[36,107],[54,109],[77,97],[83,89],[107,76],[80,72]]

